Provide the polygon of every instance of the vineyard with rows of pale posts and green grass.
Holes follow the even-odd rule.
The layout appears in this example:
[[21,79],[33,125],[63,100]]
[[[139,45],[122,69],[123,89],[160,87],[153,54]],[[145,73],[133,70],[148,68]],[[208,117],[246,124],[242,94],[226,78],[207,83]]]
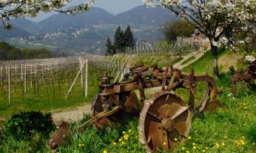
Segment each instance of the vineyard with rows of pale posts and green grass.
[[[130,65],[159,61],[146,57],[138,57],[137,54],[87,54],[66,58],[1,61],[0,116],[11,116],[30,109],[49,111],[90,103],[98,91],[98,78],[102,76],[102,71],[113,76],[114,82],[120,82]],[[174,61],[175,57],[171,59]],[[171,63],[170,58],[162,61]]]

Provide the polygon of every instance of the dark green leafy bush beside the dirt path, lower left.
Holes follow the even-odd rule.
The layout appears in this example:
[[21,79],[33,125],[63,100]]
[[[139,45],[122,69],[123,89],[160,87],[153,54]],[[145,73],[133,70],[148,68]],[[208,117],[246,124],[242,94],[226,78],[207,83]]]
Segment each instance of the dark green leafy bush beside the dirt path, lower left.
[[51,114],[43,115],[41,112],[20,112],[8,120],[6,131],[16,139],[31,139],[35,133],[49,137],[55,129]]

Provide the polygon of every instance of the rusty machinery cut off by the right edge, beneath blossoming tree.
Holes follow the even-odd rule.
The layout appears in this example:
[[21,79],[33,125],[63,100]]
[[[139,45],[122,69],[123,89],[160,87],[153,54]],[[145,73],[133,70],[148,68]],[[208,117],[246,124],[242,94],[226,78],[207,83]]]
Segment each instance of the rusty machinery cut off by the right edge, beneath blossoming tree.
[[236,82],[256,82],[256,61],[253,61],[251,65],[249,65],[244,73],[240,73],[240,71],[236,71],[236,73],[231,78],[231,92],[236,94]]

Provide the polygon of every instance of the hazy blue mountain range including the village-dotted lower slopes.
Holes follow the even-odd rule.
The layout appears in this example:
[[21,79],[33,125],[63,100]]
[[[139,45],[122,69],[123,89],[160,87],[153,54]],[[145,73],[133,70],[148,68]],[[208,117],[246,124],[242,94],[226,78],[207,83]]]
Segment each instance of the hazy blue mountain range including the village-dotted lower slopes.
[[47,46],[53,50],[104,53],[106,37],[115,35],[115,29],[123,29],[129,24],[137,41],[159,41],[161,24],[178,20],[169,10],[162,7],[134,7],[117,15],[98,7],[85,13],[68,15],[55,14],[32,22],[25,18],[11,20],[14,27],[10,31],[0,29],[0,39],[12,41],[16,46]]

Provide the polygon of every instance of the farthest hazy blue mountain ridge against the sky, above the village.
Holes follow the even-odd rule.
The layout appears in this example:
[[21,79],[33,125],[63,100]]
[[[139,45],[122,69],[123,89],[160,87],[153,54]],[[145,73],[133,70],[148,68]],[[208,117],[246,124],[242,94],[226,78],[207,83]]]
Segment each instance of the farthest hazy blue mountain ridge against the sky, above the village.
[[[32,24],[32,27],[28,26],[23,29],[30,33],[49,33],[57,31],[57,29],[70,27],[73,29],[80,29],[85,25],[93,24],[152,24],[154,26],[160,26],[160,24],[163,24],[164,22],[177,19],[176,16],[171,15],[167,9],[162,7],[147,8],[145,6],[138,6],[127,12],[117,14],[117,16],[106,12],[101,8],[92,7],[88,12],[76,14],[74,16],[68,14],[55,14],[37,24]],[[30,30],[28,28],[30,28]]]

